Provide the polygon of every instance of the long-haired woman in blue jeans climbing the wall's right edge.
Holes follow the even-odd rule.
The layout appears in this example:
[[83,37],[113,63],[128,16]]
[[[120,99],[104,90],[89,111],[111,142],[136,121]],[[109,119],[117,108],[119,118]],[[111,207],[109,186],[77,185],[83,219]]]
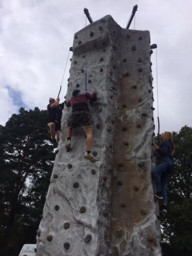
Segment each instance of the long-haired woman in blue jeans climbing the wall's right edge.
[[167,195],[165,190],[165,185],[167,184],[170,174],[174,170],[173,165],[173,154],[175,152],[175,146],[173,143],[172,133],[164,132],[161,135],[162,142],[160,146],[156,143],[152,143],[155,150],[159,153],[161,163],[158,164],[152,170],[152,176],[156,184],[156,194],[155,198],[158,200],[163,200],[163,204],[160,207],[160,213],[167,213]]

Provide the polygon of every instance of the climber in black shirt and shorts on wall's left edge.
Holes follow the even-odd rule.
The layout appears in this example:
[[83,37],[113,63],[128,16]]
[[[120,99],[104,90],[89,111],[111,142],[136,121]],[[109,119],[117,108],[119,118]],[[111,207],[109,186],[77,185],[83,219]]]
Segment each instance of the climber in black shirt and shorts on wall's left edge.
[[63,108],[64,108],[64,102],[59,104],[59,98],[57,98],[56,100],[53,98],[49,99],[49,105],[47,106],[48,113],[49,113],[48,126],[50,130],[51,138],[55,144],[58,143],[59,141],[60,123],[61,123]]

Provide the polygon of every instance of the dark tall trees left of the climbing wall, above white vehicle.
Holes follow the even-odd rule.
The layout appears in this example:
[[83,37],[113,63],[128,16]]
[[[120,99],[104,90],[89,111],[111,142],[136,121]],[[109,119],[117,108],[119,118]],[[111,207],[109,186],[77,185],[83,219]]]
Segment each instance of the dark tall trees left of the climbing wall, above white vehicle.
[[17,255],[36,243],[54,154],[47,111],[19,110],[0,126],[0,251]]

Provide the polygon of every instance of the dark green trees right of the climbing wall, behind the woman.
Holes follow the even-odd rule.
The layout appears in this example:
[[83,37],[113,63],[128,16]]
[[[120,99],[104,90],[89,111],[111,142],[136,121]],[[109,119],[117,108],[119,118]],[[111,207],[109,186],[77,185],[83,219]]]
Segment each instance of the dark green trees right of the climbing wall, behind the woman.
[[168,212],[161,220],[166,256],[192,255],[192,128],[174,132],[175,171],[167,184]]

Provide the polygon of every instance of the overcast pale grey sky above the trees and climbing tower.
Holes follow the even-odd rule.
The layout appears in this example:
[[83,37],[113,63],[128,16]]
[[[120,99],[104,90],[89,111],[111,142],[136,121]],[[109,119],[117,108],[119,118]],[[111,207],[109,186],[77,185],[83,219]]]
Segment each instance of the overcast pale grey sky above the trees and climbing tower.
[[[149,30],[151,44],[158,45],[160,132],[191,126],[191,0],[1,0],[0,124],[21,106],[46,109],[49,97],[57,96],[74,33],[86,25],[84,7],[94,21],[110,14],[125,28],[136,4],[135,29]],[[152,62],[157,127],[156,51]],[[61,100],[69,68],[70,61]]]

